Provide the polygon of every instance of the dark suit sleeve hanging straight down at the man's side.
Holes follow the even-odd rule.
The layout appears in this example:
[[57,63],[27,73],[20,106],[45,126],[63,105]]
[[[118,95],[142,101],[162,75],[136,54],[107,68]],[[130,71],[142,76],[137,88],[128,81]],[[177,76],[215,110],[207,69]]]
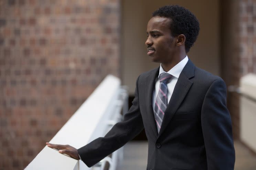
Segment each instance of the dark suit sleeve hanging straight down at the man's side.
[[208,170],[233,170],[232,123],[226,107],[226,85],[221,78],[211,84],[205,95],[201,121]]

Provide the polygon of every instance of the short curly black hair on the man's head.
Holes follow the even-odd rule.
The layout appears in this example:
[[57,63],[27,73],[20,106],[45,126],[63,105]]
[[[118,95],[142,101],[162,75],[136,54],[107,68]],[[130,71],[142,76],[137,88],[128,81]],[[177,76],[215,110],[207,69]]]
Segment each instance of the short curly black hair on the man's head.
[[167,5],[154,11],[152,16],[170,18],[172,20],[172,35],[177,36],[184,34],[186,37],[185,51],[189,52],[190,48],[194,45],[200,30],[198,19],[196,19],[191,11],[179,5]]

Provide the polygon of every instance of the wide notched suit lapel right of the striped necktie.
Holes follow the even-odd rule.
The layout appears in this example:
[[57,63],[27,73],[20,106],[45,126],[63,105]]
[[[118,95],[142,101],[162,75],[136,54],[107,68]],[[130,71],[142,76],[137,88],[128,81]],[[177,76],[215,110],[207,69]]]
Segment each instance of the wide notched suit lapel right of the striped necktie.
[[183,101],[190,87],[192,86],[193,82],[189,79],[194,76],[194,70],[195,66],[189,60],[188,63],[185,65],[184,69],[182,70],[178,78],[178,81],[174,87],[172,97],[165,111],[166,114],[164,114],[163,122],[158,137],[163,133],[164,129],[172,119],[174,113],[179,108],[181,102]]

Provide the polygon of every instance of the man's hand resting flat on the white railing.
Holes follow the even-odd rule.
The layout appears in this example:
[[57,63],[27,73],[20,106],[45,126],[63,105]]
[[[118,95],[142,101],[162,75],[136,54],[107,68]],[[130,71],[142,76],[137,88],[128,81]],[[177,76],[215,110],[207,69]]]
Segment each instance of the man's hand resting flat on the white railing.
[[61,153],[61,154],[67,154],[71,158],[74,158],[74,159],[77,159],[77,160],[80,159],[77,149],[70,146],[70,145],[56,145],[56,144],[50,144],[48,142],[46,142],[46,145],[50,148],[60,149],[59,153]]

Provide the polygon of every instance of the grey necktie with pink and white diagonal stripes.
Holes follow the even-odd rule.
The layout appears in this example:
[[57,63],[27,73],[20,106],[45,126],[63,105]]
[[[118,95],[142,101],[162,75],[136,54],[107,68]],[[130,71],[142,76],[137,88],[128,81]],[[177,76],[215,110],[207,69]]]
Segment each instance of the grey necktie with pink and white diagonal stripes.
[[154,106],[154,117],[156,120],[156,125],[157,125],[157,131],[159,133],[162,122],[163,122],[163,116],[164,116],[164,111],[166,110],[167,107],[167,93],[168,93],[168,88],[167,88],[167,82],[170,80],[172,77],[171,74],[169,73],[161,73],[159,76],[160,84],[159,84],[159,91],[155,100],[155,106]]

